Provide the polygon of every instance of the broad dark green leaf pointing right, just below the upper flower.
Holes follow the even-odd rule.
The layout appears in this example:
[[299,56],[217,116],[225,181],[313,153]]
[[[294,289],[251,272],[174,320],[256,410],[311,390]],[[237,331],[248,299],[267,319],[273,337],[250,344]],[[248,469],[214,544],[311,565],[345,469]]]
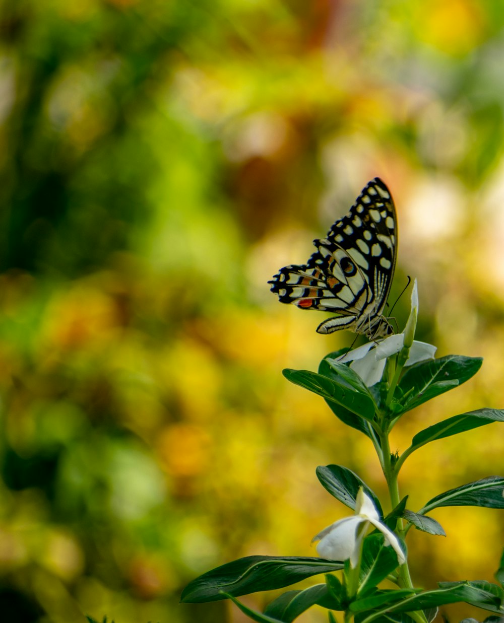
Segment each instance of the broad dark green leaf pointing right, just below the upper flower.
[[481,357],[449,354],[411,366],[397,385],[395,399],[402,406],[396,407],[395,411],[398,414],[410,411],[448,389],[465,383],[477,373],[482,363]]

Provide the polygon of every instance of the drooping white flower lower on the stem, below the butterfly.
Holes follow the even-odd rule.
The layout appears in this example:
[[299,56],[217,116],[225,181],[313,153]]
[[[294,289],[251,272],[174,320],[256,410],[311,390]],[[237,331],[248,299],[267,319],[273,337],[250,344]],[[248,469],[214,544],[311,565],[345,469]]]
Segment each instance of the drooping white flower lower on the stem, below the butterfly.
[[399,539],[392,530],[389,530],[380,521],[378,511],[373,501],[364,493],[362,487],[356,498],[355,514],[335,521],[313,537],[317,543],[317,552],[322,558],[328,560],[350,559],[352,568],[356,568],[359,562],[361,543],[366,536],[369,525],[377,528],[385,536],[385,545],[391,545],[397,554],[399,564],[404,564],[406,558],[399,545]]

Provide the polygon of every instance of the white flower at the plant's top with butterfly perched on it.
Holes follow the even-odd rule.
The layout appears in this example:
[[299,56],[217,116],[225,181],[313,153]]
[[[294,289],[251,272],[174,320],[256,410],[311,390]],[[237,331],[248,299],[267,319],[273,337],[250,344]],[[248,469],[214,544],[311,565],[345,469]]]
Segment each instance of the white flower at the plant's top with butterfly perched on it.
[[[411,333],[410,325],[416,324],[418,308],[419,295],[417,280],[415,279],[411,293],[411,312],[407,322],[407,330],[409,329],[409,333]],[[412,330],[414,331],[414,326]],[[412,337],[413,335],[411,335],[411,338]],[[351,361],[350,367],[352,370],[359,374],[362,381],[364,381],[368,387],[371,387],[381,380],[387,357],[399,353],[403,346],[404,333],[399,333],[398,335],[391,335],[379,343],[369,342],[359,346],[359,348],[354,348],[354,350],[338,358],[337,361],[339,363]],[[434,359],[435,352],[436,347],[432,346],[432,344],[415,340],[412,343],[409,357],[404,366],[412,366],[414,363],[419,363],[419,361]]]

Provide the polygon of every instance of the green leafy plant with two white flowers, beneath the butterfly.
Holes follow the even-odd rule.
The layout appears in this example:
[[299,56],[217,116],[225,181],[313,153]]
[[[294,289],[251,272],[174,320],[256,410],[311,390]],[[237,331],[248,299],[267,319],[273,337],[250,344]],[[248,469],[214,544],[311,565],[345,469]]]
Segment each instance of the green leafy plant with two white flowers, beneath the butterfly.
[[[390,452],[389,435],[400,418],[415,407],[468,381],[481,358],[448,355],[435,359],[435,348],[414,340],[418,313],[417,285],[404,333],[353,351],[330,353],[317,373],[284,370],[292,383],[322,396],[347,426],[369,437],[384,473],[392,511],[382,504],[361,478],[343,465],[317,468],[322,487],[348,506],[353,515],[336,521],[314,537],[321,558],[248,556],[224,564],[193,580],[182,592],[189,603],[231,599],[253,621],[290,623],[317,604],[328,611],[329,623],[341,612],[356,623],[429,623],[443,604],[466,602],[492,613],[487,621],[504,617],[504,554],[495,578],[487,581],[442,582],[422,591],[410,577],[405,539],[414,527],[429,535],[445,535],[428,513],[440,506],[504,508],[504,477],[491,475],[439,493],[422,508],[407,508],[399,492],[399,472],[420,447],[445,437],[504,422],[504,410],[483,408],[449,417],[414,435],[402,454]],[[370,533],[370,530],[371,533]],[[341,576],[334,573],[341,572]],[[317,574],[325,582],[287,591],[264,612],[238,601],[251,592],[279,589]],[[394,589],[380,588],[387,579]]]

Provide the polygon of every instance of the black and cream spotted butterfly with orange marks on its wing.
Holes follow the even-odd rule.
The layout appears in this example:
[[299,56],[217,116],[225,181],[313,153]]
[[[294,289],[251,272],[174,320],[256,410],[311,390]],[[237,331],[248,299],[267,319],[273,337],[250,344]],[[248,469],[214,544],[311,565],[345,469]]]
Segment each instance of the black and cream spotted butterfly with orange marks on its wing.
[[394,277],[397,217],[384,182],[367,183],[350,212],[313,244],[317,250],[306,264],[274,275],[271,292],[281,303],[339,314],[324,320],[318,333],[348,329],[370,340],[393,333],[383,311]]

